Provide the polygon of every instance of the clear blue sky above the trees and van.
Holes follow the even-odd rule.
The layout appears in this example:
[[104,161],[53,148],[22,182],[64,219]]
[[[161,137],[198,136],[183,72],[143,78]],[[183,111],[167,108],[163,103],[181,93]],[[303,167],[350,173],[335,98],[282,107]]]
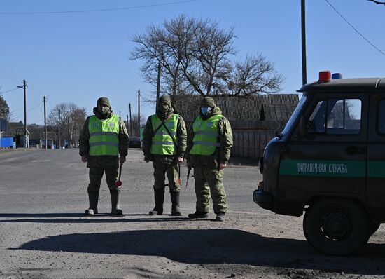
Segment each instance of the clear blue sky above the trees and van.
[[[0,1],[0,94],[11,121],[24,121],[23,90],[15,89],[23,79],[28,124],[44,123],[43,96],[47,114],[61,102],[92,114],[97,98],[106,96],[125,118],[129,103],[137,114],[141,90],[141,114],[153,114],[153,105],[143,101],[154,88],[141,76],[142,61],[130,60],[130,38],[182,13],[234,27],[234,58],[265,56],[285,78],[281,93],[302,86],[301,0]],[[384,27],[385,5],[307,0],[307,81],[322,70],[344,78],[385,76]]]

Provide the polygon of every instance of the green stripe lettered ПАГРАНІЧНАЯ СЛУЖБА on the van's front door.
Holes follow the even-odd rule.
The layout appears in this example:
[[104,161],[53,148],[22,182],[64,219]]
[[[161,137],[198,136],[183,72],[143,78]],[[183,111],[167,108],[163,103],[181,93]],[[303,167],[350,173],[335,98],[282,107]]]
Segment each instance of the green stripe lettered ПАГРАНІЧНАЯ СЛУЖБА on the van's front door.
[[282,160],[279,175],[365,177],[365,161]]

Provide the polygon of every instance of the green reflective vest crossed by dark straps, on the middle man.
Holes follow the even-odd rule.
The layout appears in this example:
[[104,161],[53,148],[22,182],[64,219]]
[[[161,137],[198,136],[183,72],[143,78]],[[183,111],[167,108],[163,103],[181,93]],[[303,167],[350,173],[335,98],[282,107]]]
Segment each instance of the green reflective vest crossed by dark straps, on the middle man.
[[[174,138],[174,141],[176,144],[178,144],[178,141],[176,140],[176,126],[178,125],[178,114],[173,114],[169,120],[165,122],[165,125],[167,126],[167,129],[169,130],[170,134]],[[159,125],[162,124],[162,121],[160,118],[154,114],[151,116],[151,125],[153,126],[153,131],[159,127]],[[158,129],[158,131],[155,132],[155,135],[153,135],[153,142],[151,144],[151,154],[159,154],[159,155],[173,155],[176,154],[176,146],[172,140],[172,137],[169,135],[169,132],[167,132],[165,125],[162,125],[161,128]]]

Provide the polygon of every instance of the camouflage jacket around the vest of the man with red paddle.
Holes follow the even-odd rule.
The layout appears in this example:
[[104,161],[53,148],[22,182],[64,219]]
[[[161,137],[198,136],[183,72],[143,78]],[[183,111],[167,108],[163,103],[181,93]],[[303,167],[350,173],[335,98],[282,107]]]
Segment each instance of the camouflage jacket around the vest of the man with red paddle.
[[[102,115],[97,111],[97,108],[94,107],[94,114],[99,119],[103,119]],[[110,118],[113,115],[111,114],[107,118]],[[90,123],[90,117],[87,117],[83,125],[83,129],[80,132],[79,137],[79,154],[80,156],[87,155],[90,150],[90,130],[88,129],[88,123]],[[128,132],[123,122],[122,118],[119,118],[119,156],[125,157],[128,154]],[[87,168],[118,168],[119,161],[118,156],[88,156]]]

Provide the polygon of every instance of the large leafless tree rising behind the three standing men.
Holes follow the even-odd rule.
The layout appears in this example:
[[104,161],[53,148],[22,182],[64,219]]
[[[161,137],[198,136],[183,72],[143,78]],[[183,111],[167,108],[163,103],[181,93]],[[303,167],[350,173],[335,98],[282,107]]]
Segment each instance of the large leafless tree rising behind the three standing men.
[[[154,88],[162,66],[161,93],[176,95],[250,95],[276,93],[283,77],[265,57],[234,62],[234,29],[218,22],[179,15],[161,27],[150,25],[132,41],[133,60],[144,60],[141,72]],[[154,90],[155,93],[155,90]]]

